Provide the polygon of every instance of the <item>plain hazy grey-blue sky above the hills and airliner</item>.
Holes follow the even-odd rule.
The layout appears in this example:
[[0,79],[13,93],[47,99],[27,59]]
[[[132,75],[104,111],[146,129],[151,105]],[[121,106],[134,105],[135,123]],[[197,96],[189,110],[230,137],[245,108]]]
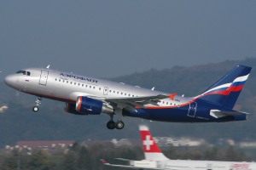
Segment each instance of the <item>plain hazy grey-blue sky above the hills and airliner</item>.
[[2,0],[0,71],[119,77],[256,57],[256,1]]

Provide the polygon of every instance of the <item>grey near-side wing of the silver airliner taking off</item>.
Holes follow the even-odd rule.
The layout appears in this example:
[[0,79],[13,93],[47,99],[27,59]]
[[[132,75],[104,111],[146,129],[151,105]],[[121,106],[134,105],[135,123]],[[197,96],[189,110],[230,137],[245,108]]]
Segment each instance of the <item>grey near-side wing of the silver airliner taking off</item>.
[[144,96],[137,98],[111,98],[105,99],[105,101],[107,101],[110,105],[120,109],[136,111],[136,106],[140,106],[142,108],[145,108],[144,105],[148,104],[159,106],[157,103],[160,102],[160,99],[166,98],[169,98],[169,96],[165,94],[158,94],[155,96]]

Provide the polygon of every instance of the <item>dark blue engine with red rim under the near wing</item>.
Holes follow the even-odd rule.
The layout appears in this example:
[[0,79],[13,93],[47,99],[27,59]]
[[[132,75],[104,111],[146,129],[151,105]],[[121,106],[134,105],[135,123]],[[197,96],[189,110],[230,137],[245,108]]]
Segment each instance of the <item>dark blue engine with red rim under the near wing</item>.
[[100,115],[101,113],[113,113],[113,108],[101,100],[79,96],[76,103],[76,111],[83,114]]

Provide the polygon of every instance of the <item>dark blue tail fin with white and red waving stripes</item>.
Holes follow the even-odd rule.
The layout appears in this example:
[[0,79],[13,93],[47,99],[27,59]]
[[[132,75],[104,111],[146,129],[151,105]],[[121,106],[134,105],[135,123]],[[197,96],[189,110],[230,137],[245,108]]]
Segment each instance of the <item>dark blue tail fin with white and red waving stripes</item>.
[[201,94],[201,99],[233,109],[251,70],[252,67],[237,65]]

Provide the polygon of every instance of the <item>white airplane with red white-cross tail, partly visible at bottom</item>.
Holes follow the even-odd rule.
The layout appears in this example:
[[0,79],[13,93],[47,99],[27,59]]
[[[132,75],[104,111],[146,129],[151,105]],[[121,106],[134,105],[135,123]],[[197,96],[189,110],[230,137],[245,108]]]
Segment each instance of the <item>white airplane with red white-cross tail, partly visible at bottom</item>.
[[167,158],[156,144],[147,126],[139,126],[143,141],[143,152],[145,160],[134,161],[123,158],[116,158],[120,161],[127,161],[128,165],[111,164],[101,159],[102,163],[109,167],[121,167],[131,169],[172,169],[172,170],[253,170],[256,169],[255,162],[245,161],[193,161],[193,160],[171,160]]

